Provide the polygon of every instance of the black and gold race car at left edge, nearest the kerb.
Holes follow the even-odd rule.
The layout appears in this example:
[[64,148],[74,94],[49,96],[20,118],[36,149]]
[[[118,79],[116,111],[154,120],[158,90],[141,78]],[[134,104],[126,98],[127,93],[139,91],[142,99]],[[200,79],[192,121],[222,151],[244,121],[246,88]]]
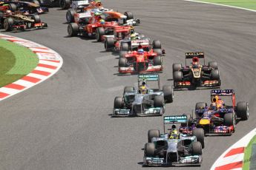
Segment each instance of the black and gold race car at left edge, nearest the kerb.
[[0,27],[5,31],[27,30],[31,28],[45,28],[47,24],[42,22],[36,14],[25,16],[22,13],[0,13]]

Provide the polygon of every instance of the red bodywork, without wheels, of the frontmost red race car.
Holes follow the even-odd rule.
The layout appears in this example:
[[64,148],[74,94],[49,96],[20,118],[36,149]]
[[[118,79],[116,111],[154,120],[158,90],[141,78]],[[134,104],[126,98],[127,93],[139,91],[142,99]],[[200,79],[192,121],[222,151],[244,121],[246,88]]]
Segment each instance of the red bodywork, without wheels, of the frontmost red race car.
[[124,55],[127,59],[127,67],[119,67],[119,73],[136,73],[136,72],[161,72],[163,65],[154,65],[154,58],[157,53],[151,49],[144,54],[139,54],[137,51],[128,52]]

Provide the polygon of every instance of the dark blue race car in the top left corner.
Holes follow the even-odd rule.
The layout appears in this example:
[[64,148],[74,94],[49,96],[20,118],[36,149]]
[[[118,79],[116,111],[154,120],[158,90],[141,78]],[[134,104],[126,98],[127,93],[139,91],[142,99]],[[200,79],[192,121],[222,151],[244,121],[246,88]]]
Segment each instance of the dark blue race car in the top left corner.
[[12,12],[30,13],[30,14],[42,14],[49,12],[47,7],[41,7],[39,1],[0,1],[0,10],[10,10]]

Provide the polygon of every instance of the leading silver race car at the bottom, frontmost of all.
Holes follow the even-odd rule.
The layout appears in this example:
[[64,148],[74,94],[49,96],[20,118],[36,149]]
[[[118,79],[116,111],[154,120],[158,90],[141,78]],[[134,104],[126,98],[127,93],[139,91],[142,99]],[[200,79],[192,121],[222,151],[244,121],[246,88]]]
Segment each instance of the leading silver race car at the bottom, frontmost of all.
[[185,123],[186,115],[165,116],[163,119],[164,133],[151,129],[148,131],[148,143],[145,143],[143,166],[163,166],[173,164],[200,164],[202,146],[204,146],[203,129],[194,129],[193,133],[179,133],[176,126],[171,132],[165,132],[165,124]]

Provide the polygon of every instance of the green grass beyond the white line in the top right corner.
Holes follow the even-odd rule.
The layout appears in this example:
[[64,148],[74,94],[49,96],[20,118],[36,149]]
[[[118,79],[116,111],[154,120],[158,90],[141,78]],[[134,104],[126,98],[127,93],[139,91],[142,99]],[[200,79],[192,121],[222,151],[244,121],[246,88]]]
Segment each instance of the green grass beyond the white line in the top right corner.
[[[200,1],[200,0],[199,0]],[[243,7],[250,10],[256,10],[256,1],[255,0],[203,0],[206,2],[211,2],[215,4],[226,4],[234,7]]]

